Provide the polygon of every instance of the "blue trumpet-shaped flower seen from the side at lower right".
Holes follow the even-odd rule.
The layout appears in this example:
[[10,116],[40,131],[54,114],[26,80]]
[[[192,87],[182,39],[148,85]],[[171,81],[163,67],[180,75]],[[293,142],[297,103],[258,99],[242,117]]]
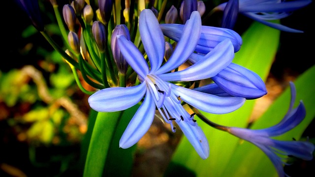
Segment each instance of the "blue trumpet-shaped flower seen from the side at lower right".
[[285,132],[300,124],[300,122],[305,118],[306,110],[302,101],[300,101],[296,108],[292,109],[296,97],[296,90],[292,82],[290,82],[290,87],[291,102],[289,110],[287,111],[283,120],[277,125],[256,130],[238,127],[228,128],[229,133],[249,141],[260,148],[274,164],[279,177],[285,176],[283,169],[283,165],[285,163],[283,158],[280,157],[281,155],[293,155],[304,160],[312,160],[313,151],[315,149],[314,144],[311,142],[280,141],[270,138],[284,134]]

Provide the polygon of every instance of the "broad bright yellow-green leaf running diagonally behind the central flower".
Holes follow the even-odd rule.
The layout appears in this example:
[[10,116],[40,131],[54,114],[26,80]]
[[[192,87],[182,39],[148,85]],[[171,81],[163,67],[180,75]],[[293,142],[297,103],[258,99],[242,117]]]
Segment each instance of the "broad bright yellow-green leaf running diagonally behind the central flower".
[[[242,38],[242,48],[235,54],[233,63],[252,70],[266,80],[278,50],[280,31],[254,22]],[[203,114],[209,120],[223,126],[245,127],[252,114],[254,103],[254,100],[248,100],[240,109],[229,114],[212,115],[204,112]],[[200,120],[198,124],[207,135],[210,156],[208,159],[202,160],[187,138],[183,137],[174,153],[172,163],[194,171],[197,177],[220,177],[227,169],[228,161],[238,145],[238,139],[226,132],[214,129]]]

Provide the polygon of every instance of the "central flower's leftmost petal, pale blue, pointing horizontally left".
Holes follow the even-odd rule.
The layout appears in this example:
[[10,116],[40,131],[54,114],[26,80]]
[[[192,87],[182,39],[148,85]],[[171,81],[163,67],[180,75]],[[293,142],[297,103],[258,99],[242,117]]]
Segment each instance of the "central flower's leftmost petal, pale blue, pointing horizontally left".
[[111,87],[95,92],[88,101],[95,111],[115,112],[135,105],[143,98],[145,92],[145,83],[133,87]]

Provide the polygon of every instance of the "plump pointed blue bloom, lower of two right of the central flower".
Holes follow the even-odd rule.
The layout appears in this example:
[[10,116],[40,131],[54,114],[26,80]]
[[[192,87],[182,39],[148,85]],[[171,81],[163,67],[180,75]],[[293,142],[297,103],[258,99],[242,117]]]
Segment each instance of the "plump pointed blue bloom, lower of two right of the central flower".
[[256,99],[267,94],[265,83],[256,73],[234,63],[230,63],[212,80],[234,97]]

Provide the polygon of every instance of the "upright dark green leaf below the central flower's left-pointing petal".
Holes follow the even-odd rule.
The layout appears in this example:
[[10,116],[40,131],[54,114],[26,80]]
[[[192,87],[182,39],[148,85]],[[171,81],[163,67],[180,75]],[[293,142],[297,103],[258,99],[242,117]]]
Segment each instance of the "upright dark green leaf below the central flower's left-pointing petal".
[[[138,106],[137,104],[125,111],[97,113],[85,162],[84,177],[102,177],[114,172],[124,174],[131,171],[132,159],[128,158],[132,158],[130,154],[132,148],[122,152],[125,153],[124,158],[119,157],[121,155],[118,154],[121,151],[118,149],[120,137],[117,135],[122,134],[122,128],[126,128]],[[111,168],[117,167],[109,162],[106,163],[107,158],[117,161],[112,162],[113,164],[120,162],[124,163],[125,166],[119,166],[118,171],[113,171]]]

